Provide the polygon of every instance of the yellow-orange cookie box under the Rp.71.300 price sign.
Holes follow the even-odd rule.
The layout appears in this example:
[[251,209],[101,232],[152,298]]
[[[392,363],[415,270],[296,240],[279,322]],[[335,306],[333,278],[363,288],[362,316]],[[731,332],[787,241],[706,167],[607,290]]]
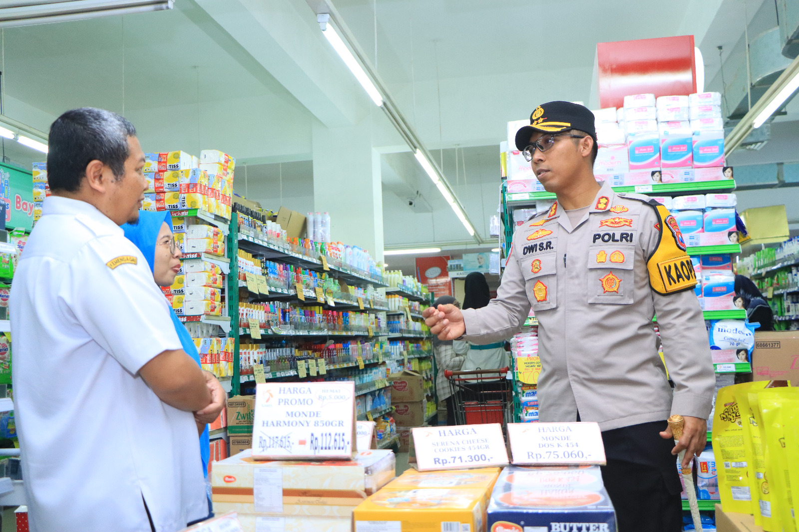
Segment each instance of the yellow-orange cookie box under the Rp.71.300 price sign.
[[[442,530],[483,530],[486,521],[485,490],[479,488],[389,490],[384,488],[361,502],[352,513],[355,530],[380,521],[401,532],[441,532]],[[442,524],[446,523],[446,524]],[[455,528],[458,523],[458,528]],[[447,528],[450,526],[451,528]],[[368,530],[372,530],[368,528]]]

